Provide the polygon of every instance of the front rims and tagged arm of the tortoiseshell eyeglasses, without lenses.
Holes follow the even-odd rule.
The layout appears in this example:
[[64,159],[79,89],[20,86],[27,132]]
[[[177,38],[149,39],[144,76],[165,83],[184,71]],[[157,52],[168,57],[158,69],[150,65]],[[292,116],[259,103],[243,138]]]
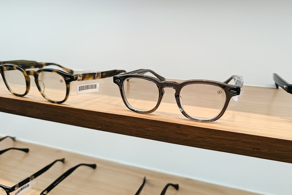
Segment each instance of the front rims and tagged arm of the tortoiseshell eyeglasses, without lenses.
[[[5,78],[5,75],[4,75],[4,70],[5,68],[9,68],[9,70],[19,70],[25,77],[25,82],[26,82],[26,90],[25,90],[25,93],[24,94],[17,94],[17,93],[14,93],[13,90],[9,87],[8,85],[8,82],[6,81],[6,78]],[[29,68],[32,68],[32,67],[29,67]],[[43,72],[51,72],[51,73],[56,73],[58,75],[60,75],[63,80],[65,81],[65,84],[66,84],[66,96],[65,98],[62,100],[62,101],[54,101],[54,100],[51,100],[49,99],[43,92],[42,92],[42,89],[41,89],[41,86],[39,85],[39,82],[38,82],[38,77],[39,77],[39,74],[40,73],[43,73]],[[0,64],[0,73],[2,75],[2,78],[4,80],[4,83],[7,87],[7,89],[15,96],[18,96],[18,97],[23,97],[25,95],[28,94],[29,92],[29,89],[30,89],[30,77],[29,76],[34,76],[34,81],[36,83],[36,87],[38,88],[40,94],[49,102],[51,103],[64,103],[68,98],[69,98],[69,94],[70,94],[70,83],[72,81],[77,81],[79,79],[79,76],[82,76],[82,80],[95,80],[95,79],[101,79],[101,78],[105,78],[105,77],[112,77],[114,75],[117,75],[117,74],[120,74],[120,73],[124,73],[126,72],[125,70],[109,70],[109,71],[104,71],[104,72],[100,72],[100,75],[98,76],[96,73],[84,73],[84,74],[71,74],[71,73],[65,73],[64,71],[62,70],[56,70],[56,69],[51,69],[51,68],[43,68],[43,69],[39,69],[39,70],[36,70],[36,71],[33,71],[33,70],[26,70],[25,68],[23,68],[20,65],[15,65],[15,64],[3,64],[1,65]]]

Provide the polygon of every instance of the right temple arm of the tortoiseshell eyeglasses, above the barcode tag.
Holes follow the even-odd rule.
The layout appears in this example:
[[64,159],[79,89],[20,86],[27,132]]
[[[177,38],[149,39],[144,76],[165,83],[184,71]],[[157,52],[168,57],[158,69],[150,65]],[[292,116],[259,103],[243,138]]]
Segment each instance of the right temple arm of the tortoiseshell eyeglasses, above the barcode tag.
[[93,72],[93,73],[81,72],[82,73],[81,75],[80,74],[74,75],[74,81],[77,81],[79,79],[79,76],[81,76],[83,81],[86,81],[86,80],[102,79],[106,77],[113,77],[115,75],[118,75],[120,73],[125,73],[125,72],[126,72],[125,70],[108,70],[108,71],[101,72],[100,76],[98,76],[96,72]]

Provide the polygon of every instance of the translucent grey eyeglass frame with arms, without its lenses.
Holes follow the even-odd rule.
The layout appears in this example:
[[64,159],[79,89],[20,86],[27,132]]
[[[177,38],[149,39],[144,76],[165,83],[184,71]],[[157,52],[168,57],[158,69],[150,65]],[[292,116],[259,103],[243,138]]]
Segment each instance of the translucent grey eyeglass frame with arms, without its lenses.
[[[148,75],[144,75],[145,73],[152,73],[158,79],[154,78],[154,77],[151,77],[151,76],[148,76]],[[116,75],[116,76],[113,77],[113,80],[114,80],[114,83],[119,86],[120,93],[121,93],[121,96],[122,96],[124,104],[131,111],[134,111],[136,113],[141,113],[141,114],[148,114],[148,113],[154,112],[158,108],[158,106],[159,106],[159,104],[160,104],[160,102],[161,102],[161,100],[163,98],[164,87],[169,87],[169,88],[175,89],[176,103],[177,103],[178,108],[180,109],[181,113],[183,113],[183,115],[185,117],[189,118],[190,120],[197,121],[197,122],[213,122],[215,120],[218,120],[224,114],[231,97],[240,94],[241,87],[235,86],[235,85],[231,85],[231,84],[227,84],[228,82],[230,82],[231,80],[235,79],[236,77],[238,77],[238,76],[233,75],[229,79],[227,79],[225,82],[218,82],[218,81],[211,81],[211,80],[186,80],[186,81],[178,83],[178,82],[174,82],[174,81],[166,81],[164,77],[158,75],[157,73],[155,73],[152,70],[139,69],[139,70],[135,70],[135,71],[132,71],[132,72]],[[126,96],[124,94],[124,82],[125,82],[125,80],[127,80],[129,78],[145,79],[145,80],[154,82],[156,84],[156,86],[157,86],[157,88],[159,90],[159,98],[158,98],[156,106],[153,109],[151,109],[149,111],[140,111],[140,110],[137,110],[137,109],[133,108],[128,103],[128,101],[126,99]],[[223,89],[225,94],[226,94],[226,99],[225,99],[225,104],[224,104],[221,112],[217,116],[215,116],[215,117],[213,117],[211,119],[194,118],[194,117],[188,115],[184,111],[183,107],[181,106],[181,103],[180,103],[180,91],[184,86],[189,85],[189,84],[208,84],[208,85],[214,85],[214,86],[217,86],[217,87],[220,87],[221,89]]]

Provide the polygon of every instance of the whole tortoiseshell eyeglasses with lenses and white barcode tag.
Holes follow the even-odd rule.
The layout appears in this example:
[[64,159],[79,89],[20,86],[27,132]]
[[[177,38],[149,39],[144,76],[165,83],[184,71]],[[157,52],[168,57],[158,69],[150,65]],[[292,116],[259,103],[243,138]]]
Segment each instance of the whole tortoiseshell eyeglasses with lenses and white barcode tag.
[[[43,68],[48,65],[57,65],[68,73],[51,68]],[[26,68],[41,68],[39,70],[26,70]],[[0,61],[0,73],[7,89],[15,96],[23,97],[30,89],[30,77],[34,76],[36,86],[41,95],[51,103],[64,103],[70,94],[72,82],[98,80],[106,77],[125,73],[125,70],[109,70],[104,72],[82,71],[73,74],[74,71],[55,63],[37,63],[34,61]],[[75,94],[98,91],[99,83],[80,83],[76,89],[71,88]],[[72,94],[72,93],[71,93]]]

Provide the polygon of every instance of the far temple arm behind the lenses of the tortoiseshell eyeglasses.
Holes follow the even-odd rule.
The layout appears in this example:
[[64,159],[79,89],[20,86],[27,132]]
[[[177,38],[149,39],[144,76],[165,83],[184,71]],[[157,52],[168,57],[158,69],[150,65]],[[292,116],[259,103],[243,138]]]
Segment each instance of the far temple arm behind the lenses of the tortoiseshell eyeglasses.
[[62,68],[63,70],[65,70],[66,72],[68,72],[70,74],[74,74],[74,70],[71,70],[69,68],[65,68],[64,66],[61,66],[61,65],[55,64],[55,63],[45,63],[45,62],[36,62],[36,61],[28,61],[28,60],[3,61],[2,63],[3,64],[19,65],[19,66],[21,66],[22,68],[25,68],[25,69],[43,68],[45,66],[55,65],[55,66],[58,66],[58,67]]

